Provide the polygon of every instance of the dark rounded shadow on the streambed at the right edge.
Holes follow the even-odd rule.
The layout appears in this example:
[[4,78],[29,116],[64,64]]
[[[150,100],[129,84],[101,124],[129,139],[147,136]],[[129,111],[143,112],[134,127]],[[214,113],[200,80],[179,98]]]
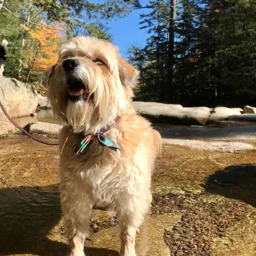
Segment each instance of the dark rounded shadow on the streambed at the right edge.
[[256,207],[256,166],[228,166],[210,175],[205,189],[226,198],[241,200]]

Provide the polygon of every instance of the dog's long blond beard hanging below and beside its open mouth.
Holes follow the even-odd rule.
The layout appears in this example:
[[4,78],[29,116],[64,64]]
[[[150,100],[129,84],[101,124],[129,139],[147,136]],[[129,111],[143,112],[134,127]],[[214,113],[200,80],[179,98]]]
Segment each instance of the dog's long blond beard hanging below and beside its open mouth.
[[127,104],[122,85],[116,84],[113,78],[95,79],[89,88],[93,98],[78,102],[69,100],[66,106],[67,121],[78,133],[98,132],[121,114]]

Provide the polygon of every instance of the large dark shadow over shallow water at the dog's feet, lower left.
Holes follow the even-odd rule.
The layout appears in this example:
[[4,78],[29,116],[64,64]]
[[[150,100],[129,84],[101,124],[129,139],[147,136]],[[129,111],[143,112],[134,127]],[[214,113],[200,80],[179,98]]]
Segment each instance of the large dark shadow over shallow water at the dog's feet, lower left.
[[[62,227],[56,241],[50,240],[52,234],[47,238],[60,219],[58,185],[0,189],[0,255],[66,255],[66,243],[58,242],[66,241]],[[118,256],[114,250],[85,248],[85,251],[86,256]]]

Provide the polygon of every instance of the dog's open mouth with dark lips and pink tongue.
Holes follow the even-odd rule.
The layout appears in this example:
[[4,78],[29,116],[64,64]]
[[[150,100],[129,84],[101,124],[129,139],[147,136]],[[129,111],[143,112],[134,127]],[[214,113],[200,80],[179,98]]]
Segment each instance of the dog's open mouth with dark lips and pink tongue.
[[66,81],[67,84],[67,94],[71,101],[77,102],[80,100],[86,101],[89,98],[89,90],[87,86],[80,80],[71,80]]

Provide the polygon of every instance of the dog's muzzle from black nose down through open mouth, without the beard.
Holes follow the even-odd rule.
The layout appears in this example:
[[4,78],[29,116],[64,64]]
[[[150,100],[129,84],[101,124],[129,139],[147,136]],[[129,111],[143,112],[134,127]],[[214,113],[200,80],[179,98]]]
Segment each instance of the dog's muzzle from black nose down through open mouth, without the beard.
[[66,91],[72,102],[87,100],[89,97],[89,90],[81,77],[82,65],[82,62],[75,58],[66,59],[62,63],[66,76]]

